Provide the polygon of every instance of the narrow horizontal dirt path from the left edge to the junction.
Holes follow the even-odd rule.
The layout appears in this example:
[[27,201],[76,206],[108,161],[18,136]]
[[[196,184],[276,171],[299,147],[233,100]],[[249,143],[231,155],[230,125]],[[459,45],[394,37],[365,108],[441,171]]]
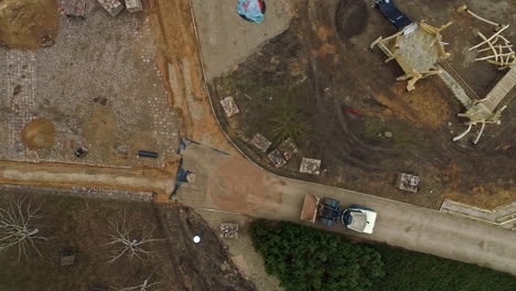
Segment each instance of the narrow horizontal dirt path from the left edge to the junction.
[[175,166],[173,163],[164,169],[151,169],[0,161],[0,183],[155,192],[159,198],[163,198],[174,186]]

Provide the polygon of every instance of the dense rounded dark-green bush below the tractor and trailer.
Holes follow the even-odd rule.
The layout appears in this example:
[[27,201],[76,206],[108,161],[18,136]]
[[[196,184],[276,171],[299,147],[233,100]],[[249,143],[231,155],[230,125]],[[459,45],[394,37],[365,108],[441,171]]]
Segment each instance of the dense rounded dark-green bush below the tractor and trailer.
[[267,273],[278,277],[287,291],[369,290],[384,276],[377,251],[340,235],[262,219],[249,230]]

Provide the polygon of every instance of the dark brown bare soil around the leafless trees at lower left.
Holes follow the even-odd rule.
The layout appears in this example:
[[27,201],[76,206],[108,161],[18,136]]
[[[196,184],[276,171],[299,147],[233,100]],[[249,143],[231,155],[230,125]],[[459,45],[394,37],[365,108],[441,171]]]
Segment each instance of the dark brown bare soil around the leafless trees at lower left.
[[[34,193],[2,193],[1,206],[13,196],[29,194],[33,205],[42,205],[41,234],[50,239],[37,241],[42,256],[30,249],[18,260],[18,249],[0,254],[1,290],[87,290],[100,285],[118,290],[138,285],[151,276],[161,290],[255,290],[237,271],[227,251],[206,223],[184,207],[157,206],[104,200],[44,196]],[[120,222],[126,214],[137,237],[147,233],[162,240],[146,246],[151,251],[143,260],[127,257],[107,263],[112,255],[108,222]],[[202,241],[195,245],[194,235]],[[60,252],[77,252],[73,266],[60,266]]]

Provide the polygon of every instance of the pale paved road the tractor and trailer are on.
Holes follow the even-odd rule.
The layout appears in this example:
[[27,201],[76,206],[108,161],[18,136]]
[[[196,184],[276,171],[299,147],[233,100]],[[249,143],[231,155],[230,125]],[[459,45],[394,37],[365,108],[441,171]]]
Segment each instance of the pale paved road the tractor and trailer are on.
[[[516,274],[516,234],[472,219],[357,192],[279,177],[248,161],[190,144],[183,165],[196,174],[178,201],[195,208],[245,213],[300,222],[305,193],[356,203],[378,212],[375,233],[366,238]],[[352,233],[342,226],[332,230]],[[361,236],[361,235],[358,235]]]

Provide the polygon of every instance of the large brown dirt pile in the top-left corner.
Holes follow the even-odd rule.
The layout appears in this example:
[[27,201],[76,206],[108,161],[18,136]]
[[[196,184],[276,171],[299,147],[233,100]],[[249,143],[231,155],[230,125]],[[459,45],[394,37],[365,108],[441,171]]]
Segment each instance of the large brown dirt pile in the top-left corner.
[[58,21],[55,0],[0,0],[0,44],[28,50],[51,45]]

